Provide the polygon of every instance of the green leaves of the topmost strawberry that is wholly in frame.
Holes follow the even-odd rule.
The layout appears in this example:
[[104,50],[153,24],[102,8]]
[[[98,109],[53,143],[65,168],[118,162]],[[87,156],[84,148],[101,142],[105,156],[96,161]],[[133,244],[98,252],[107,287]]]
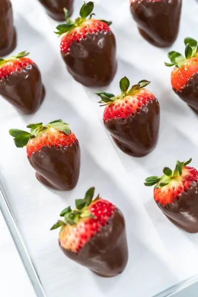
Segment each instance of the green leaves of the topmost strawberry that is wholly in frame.
[[[81,24],[86,20],[86,18],[89,16],[89,19],[92,18],[95,13],[92,13],[94,9],[94,2],[89,1],[88,3],[83,4],[83,6],[80,9],[80,17],[76,18],[75,21],[72,21],[69,18],[68,10],[64,8],[65,13],[65,21],[66,24],[60,24],[56,27],[57,31],[54,32],[55,34],[58,34],[58,36],[61,36],[62,34],[74,29],[75,27],[81,26]],[[108,26],[111,25],[111,22],[101,20],[102,22],[106,23]]]

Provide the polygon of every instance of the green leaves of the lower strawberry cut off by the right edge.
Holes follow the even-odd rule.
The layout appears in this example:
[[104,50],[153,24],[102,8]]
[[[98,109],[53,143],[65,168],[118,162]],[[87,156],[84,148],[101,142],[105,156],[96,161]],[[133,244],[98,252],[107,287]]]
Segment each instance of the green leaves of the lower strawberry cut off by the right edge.
[[163,169],[163,175],[161,177],[158,176],[150,176],[146,178],[145,180],[145,186],[152,187],[155,185],[155,189],[162,188],[164,186],[167,186],[171,180],[175,179],[178,176],[182,175],[182,170],[185,166],[190,164],[192,161],[192,158],[189,159],[187,162],[180,162],[177,161],[174,171],[172,171],[170,168],[165,167]]

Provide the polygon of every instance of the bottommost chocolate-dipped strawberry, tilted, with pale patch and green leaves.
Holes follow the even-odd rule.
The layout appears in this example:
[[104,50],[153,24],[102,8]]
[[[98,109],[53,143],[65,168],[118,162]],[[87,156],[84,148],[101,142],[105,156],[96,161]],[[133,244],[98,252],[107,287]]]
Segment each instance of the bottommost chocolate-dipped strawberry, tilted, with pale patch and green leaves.
[[94,188],[84,199],[76,200],[76,209],[65,208],[52,228],[61,227],[59,246],[65,255],[88,267],[101,277],[121,274],[128,261],[125,220],[111,202],[97,196]]

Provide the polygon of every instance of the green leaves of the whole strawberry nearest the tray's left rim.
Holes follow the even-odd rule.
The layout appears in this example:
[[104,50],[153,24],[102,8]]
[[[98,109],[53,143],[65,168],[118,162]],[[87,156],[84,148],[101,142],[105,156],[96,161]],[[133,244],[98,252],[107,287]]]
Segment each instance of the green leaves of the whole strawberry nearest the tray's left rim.
[[30,139],[38,137],[41,131],[44,131],[48,128],[54,128],[58,131],[64,132],[67,135],[71,134],[69,124],[63,123],[63,121],[60,119],[50,122],[45,126],[43,125],[43,123],[34,123],[34,124],[29,124],[26,127],[30,128],[31,133],[23,130],[19,130],[19,129],[9,130],[9,134],[12,137],[14,137],[14,143],[17,148],[25,147]]

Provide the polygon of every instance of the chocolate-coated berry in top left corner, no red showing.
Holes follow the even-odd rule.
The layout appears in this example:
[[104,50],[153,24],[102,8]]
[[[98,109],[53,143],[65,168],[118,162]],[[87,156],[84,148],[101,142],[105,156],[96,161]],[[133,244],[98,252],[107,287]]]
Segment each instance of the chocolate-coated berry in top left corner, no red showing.
[[15,47],[12,4],[10,0],[0,0],[0,57],[9,54]]

